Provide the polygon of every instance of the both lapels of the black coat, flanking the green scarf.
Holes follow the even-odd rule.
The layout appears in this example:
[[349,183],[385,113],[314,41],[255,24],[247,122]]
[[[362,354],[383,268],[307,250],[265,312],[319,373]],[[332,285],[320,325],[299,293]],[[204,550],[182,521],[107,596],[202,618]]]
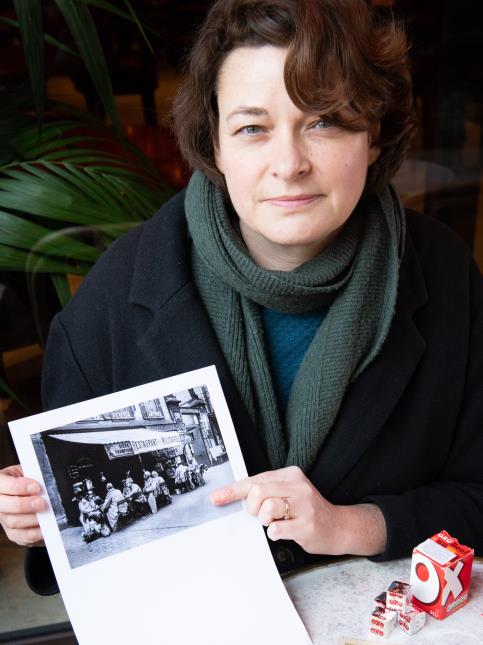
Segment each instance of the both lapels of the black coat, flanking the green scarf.
[[[163,240],[166,236],[168,242]],[[247,469],[249,473],[267,470],[260,437],[193,283],[189,253],[182,191],[144,225],[139,239],[129,300],[151,316],[138,347],[153,365],[157,378],[214,364]],[[350,386],[335,427],[311,471],[312,480],[325,494],[330,494],[356,464],[401,398],[425,350],[413,317],[426,301],[421,266],[408,235],[396,312],[384,348]]]

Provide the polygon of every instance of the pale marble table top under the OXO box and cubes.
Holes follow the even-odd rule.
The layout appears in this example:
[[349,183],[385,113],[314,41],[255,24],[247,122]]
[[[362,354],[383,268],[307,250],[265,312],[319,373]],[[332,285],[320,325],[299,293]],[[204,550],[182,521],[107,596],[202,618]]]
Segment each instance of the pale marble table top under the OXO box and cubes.
[[371,638],[373,599],[393,580],[408,582],[410,564],[410,558],[381,563],[357,558],[296,573],[284,583],[314,645],[338,645],[341,637],[394,645],[482,645],[483,562],[477,561],[467,605],[442,621],[426,616],[426,625],[414,636],[395,627],[388,640]]

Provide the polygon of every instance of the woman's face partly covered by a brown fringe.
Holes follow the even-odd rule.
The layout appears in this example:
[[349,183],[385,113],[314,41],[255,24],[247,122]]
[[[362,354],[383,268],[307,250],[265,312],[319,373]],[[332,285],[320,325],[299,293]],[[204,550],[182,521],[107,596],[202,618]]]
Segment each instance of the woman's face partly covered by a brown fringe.
[[292,103],[285,56],[271,46],[228,55],[215,152],[250,253],[279,270],[314,257],[337,235],[379,155],[368,132],[343,130]]

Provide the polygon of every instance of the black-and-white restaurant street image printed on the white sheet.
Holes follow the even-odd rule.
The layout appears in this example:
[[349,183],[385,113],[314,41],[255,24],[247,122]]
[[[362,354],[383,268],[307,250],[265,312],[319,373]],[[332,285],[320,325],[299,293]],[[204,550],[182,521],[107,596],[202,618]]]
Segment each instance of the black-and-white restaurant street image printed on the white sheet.
[[207,385],[31,435],[72,568],[240,511]]

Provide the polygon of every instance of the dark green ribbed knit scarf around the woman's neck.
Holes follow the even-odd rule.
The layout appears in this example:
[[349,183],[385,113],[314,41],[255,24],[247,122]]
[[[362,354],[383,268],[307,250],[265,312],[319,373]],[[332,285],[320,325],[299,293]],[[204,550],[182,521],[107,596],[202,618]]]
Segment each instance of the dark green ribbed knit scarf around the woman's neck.
[[[255,264],[222,192],[201,172],[191,178],[185,210],[194,280],[269,463],[307,471],[347,387],[379,353],[389,331],[405,234],[397,196],[388,188],[361,198],[332,244],[293,271]],[[260,306],[303,313],[328,302],[282,419]]]

